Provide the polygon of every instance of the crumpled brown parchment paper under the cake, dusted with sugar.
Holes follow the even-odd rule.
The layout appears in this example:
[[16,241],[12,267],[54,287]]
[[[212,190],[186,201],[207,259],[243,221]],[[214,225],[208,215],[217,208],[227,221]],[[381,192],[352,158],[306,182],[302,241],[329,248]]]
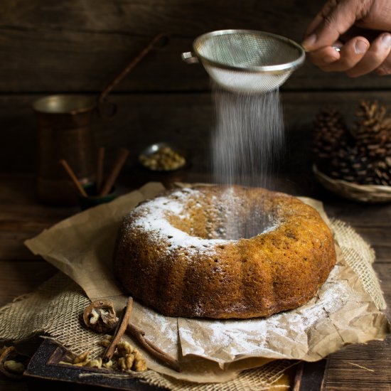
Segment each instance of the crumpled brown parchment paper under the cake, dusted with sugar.
[[[117,311],[122,310],[126,296],[112,273],[119,224],[141,200],[163,190],[161,183],[147,183],[111,203],[77,213],[25,244],[77,282],[91,300],[109,298]],[[301,200],[329,223],[321,203]],[[171,318],[134,301],[132,323],[181,363],[181,373],[176,373],[145,353],[149,368],[181,380],[223,382],[269,360],[320,360],[348,343],[385,338],[390,332],[385,314],[376,308],[338,246],[337,254],[336,267],[314,299],[269,318]]]

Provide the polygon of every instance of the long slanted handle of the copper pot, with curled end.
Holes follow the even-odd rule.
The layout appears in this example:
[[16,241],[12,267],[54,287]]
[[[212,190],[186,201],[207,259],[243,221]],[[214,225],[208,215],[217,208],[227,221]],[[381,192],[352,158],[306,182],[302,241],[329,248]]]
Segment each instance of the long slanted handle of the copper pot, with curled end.
[[168,39],[167,34],[160,33],[154,36],[149,44],[146,45],[146,47],[141,50],[141,52],[135,58],[132,59],[132,61],[124,68],[124,70],[122,70],[119,75],[114,77],[114,80],[109,82],[109,84],[101,92],[98,99],[98,113],[100,114],[100,117],[105,117],[107,119],[114,117],[114,115],[117,113],[117,105],[112,104],[112,108],[110,109],[109,114],[103,114],[102,111],[102,104],[105,102],[107,95],[109,95],[109,92],[111,92],[112,89],[140,62],[140,60],[144,58],[144,56],[148,54],[156,46],[156,44],[163,39]]

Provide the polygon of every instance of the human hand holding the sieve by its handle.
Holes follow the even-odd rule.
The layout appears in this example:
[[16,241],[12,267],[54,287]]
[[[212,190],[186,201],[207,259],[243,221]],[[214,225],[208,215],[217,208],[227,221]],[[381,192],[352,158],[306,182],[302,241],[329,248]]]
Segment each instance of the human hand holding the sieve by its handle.
[[302,46],[326,72],[390,75],[389,31],[391,0],[328,0],[306,29]]

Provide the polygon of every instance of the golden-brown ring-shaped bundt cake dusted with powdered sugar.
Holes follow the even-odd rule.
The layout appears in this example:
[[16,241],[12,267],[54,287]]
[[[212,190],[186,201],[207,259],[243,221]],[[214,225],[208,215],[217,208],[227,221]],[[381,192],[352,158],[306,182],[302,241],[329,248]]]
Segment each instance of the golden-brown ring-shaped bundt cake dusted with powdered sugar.
[[[259,231],[246,237],[254,220]],[[113,262],[124,291],[165,316],[253,318],[309,301],[336,252],[328,225],[298,198],[205,185],[137,205]]]

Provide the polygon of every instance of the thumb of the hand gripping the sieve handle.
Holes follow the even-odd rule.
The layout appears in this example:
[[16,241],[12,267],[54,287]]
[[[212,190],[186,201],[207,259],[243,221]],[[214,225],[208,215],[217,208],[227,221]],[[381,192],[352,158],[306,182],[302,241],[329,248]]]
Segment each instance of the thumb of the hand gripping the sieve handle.
[[355,0],[329,1],[310,24],[301,45],[307,51],[333,45],[353,26],[357,14],[358,2]]

